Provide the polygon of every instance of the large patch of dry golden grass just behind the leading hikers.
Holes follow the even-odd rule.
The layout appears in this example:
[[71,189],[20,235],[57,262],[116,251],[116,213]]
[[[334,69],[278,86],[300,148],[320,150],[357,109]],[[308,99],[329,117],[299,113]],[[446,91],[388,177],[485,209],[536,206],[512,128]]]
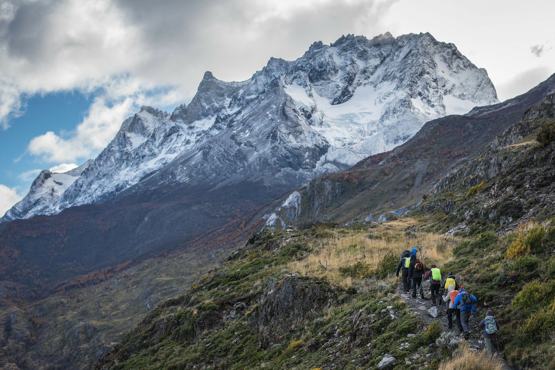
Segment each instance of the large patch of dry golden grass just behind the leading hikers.
[[[413,219],[401,219],[384,223],[375,229],[350,230],[348,234],[340,235],[334,230],[334,237],[317,241],[313,245],[314,252],[305,259],[290,262],[287,268],[302,275],[326,277],[331,282],[347,287],[352,285],[354,279],[342,277],[339,268],[362,261],[376,269],[379,260],[391,251],[400,255],[401,251],[416,246],[420,249],[418,256],[427,264],[441,265],[448,261],[452,255],[452,243],[445,244],[440,235],[416,233],[416,238],[405,238],[401,230],[416,223]],[[374,238],[369,238],[369,234]]]

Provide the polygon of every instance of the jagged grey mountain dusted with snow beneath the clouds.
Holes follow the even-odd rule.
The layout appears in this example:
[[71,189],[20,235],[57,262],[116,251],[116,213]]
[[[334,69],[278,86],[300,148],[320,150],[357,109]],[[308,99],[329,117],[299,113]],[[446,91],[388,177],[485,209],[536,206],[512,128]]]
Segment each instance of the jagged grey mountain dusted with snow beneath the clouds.
[[125,120],[94,160],[43,171],[0,222],[102,202],[134,185],[295,187],[407,141],[426,121],[497,103],[485,69],[432,35],[347,35],[242,82],[204,74],[188,105]]

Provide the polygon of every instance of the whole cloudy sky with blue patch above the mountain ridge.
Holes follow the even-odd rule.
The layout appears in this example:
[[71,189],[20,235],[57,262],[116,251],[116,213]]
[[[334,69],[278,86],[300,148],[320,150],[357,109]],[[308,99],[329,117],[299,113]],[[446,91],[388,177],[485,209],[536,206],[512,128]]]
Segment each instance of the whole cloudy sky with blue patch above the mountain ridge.
[[188,102],[204,71],[245,80],[343,34],[430,32],[509,99],[555,73],[554,3],[0,0],[0,215],[41,169],[98,155],[141,105]]

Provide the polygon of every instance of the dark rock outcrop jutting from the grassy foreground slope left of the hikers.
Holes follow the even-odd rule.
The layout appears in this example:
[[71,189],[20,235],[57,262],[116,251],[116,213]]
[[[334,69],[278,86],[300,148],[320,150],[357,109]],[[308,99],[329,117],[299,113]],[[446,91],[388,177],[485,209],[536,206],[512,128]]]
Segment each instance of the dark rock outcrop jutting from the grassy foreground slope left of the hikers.
[[260,307],[250,318],[260,346],[269,348],[280,343],[291,325],[316,317],[316,312],[330,306],[332,300],[334,295],[320,285],[286,275],[278,286],[263,295]]

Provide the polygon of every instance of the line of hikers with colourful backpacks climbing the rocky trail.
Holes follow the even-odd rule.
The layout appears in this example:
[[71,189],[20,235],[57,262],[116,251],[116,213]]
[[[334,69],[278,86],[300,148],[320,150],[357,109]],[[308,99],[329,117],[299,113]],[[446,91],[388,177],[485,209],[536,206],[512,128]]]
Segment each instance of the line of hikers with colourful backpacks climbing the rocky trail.
[[[447,278],[442,280],[441,271],[435,264],[430,265],[430,269],[426,269],[422,261],[420,261],[416,254],[417,248],[412,250],[404,250],[401,254],[401,260],[397,265],[396,276],[399,277],[401,273],[401,280],[403,282],[403,292],[408,293],[412,290],[412,299],[416,299],[416,292],[418,291],[421,298],[424,298],[422,290],[422,280],[430,279],[430,295],[432,304],[437,305],[438,300],[442,300],[447,307],[447,327],[453,330],[453,315],[456,317],[456,323],[460,333],[468,339],[470,337],[470,330],[468,330],[468,320],[470,315],[474,313],[476,307],[475,302],[478,300],[475,296],[465,290],[463,286],[459,286],[455,274],[448,273]],[[445,294],[440,293],[443,287]],[[486,343],[488,353],[493,354],[494,346],[497,342],[497,331],[499,330],[499,323],[497,322],[493,312],[487,311],[486,317],[480,322],[480,328],[483,328],[483,336]]]

